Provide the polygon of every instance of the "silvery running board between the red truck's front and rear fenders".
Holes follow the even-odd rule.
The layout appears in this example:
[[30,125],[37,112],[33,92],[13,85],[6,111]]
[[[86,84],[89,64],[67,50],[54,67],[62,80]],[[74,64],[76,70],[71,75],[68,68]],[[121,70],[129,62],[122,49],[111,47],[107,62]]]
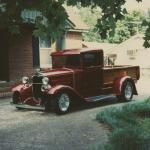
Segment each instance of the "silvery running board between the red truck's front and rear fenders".
[[114,95],[100,95],[100,96],[94,96],[94,97],[88,97],[88,98],[85,98],[85,100],[87,102],[97,102],[97,101],[101,101],[101,100],[104,100],[104,99],[107,99],[107,98],[113,98]]

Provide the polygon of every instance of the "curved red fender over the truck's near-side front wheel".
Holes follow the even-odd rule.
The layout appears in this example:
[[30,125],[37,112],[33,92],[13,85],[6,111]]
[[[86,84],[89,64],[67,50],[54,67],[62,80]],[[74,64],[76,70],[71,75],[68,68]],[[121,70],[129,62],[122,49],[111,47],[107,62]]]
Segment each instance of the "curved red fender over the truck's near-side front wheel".
[[52,87],[48,91],[48,94],[50,94],[50,95],[57,95],[58,93],[63,92],[63,91],[70,92],[70,93],[72,93],[72,94],[82,98],[82,96],[76,90],[74,90],[72,87],[66,86],[66,85],[57,85],[55,87]]

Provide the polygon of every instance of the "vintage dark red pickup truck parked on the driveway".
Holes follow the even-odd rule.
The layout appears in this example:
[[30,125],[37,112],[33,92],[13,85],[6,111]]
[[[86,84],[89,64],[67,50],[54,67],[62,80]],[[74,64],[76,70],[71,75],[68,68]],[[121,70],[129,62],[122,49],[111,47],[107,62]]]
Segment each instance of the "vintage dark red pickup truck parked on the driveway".
[[16,107],[43,108],[67,113],[73,102],[95,102],[116,95],[130,101],[137,95],[139,66],[105,66],[103,50],[73,49],[54,52],[52,69],[23,77],[14,87],[12,103]]

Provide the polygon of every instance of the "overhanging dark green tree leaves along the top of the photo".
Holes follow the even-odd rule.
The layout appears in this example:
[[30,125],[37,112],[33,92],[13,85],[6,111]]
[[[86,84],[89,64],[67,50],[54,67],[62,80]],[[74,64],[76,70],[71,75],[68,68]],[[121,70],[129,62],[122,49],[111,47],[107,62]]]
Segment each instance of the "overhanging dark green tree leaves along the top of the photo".
[[[142,0],[136,0],[140,2]],[[0,27],[13,27],[15,31],[19,30],[19,25],[22,22],[21,11],[37,10],[41,12],[36,18],[35,33],[49,33],[54,36],[57,33],[64,31],[65,20],[67,13],[62,4],[81,6],[100,7],[102,9],[102,17],[97,20],[97,29],[101,38],[107,38],[108,35],[113,35],[115,32],[116,22],[123,18],[126,9],[122,8],[126,0],[1,0],[0,1]],[[43,24],[43,18],[46,18],[46,24]],[[150,31],[150,22],[145,20],[144,25],[147,27],[146,32]],[[145,46],[150,47],[150,35],[145,34]]]

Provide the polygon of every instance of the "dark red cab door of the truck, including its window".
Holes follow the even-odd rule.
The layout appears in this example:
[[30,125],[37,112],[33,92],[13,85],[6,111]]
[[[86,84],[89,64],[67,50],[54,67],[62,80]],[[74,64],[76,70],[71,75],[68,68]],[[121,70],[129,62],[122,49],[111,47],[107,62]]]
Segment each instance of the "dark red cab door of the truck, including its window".
[[85,97],[93,97],[101,94],[102,61],[100,58],[99,52],[88,52],[83,54],[83,86]]

